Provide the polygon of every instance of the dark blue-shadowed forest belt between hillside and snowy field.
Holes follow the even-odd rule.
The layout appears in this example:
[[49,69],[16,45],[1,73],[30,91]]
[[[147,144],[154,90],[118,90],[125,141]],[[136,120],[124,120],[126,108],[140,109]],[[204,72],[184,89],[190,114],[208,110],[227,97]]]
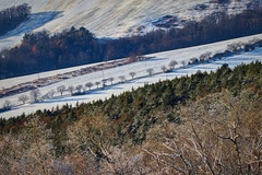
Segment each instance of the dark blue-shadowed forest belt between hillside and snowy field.
[[181,30],[117,39],[96,38],[84,27],[25,34],[21,46],[0,52],[0,79],[259,34],[261,16],[261,10],[231,16],[221,12]]

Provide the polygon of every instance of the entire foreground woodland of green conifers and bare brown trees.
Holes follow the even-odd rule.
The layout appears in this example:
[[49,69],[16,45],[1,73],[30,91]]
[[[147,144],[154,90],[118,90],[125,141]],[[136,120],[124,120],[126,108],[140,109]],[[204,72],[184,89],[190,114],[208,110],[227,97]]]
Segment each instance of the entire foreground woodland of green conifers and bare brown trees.
[[261,174],[262,63],[0,120],[1,174]]

